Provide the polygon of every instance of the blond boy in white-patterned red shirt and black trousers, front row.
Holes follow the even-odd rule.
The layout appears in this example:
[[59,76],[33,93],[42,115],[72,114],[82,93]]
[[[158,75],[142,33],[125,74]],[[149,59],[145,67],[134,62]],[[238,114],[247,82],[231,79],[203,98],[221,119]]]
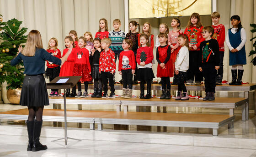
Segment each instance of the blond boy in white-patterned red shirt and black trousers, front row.
[[101,74],[102,84],[103,84],[103,97],[107,98],[107,81],[109,81],[110,86],[110,95],[108,98],[115,98],[115,87],[113,81],[113,74],[116,70],[116,63],[115,63],[115,53],[109,49],[111,45],[110,38],[104,38],[101,40],[101,48],[104,50],[101,52],[100,61],[99,61],[99,72]]

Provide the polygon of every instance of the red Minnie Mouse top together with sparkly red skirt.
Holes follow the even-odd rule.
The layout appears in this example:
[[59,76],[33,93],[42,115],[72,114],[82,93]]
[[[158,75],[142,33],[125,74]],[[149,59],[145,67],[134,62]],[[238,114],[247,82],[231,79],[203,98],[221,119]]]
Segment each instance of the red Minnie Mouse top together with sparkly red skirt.
[[91,65],[89,62],[89,51],[86,48],[76,48],[73,76],[82,76],[80,82],[91,81]]

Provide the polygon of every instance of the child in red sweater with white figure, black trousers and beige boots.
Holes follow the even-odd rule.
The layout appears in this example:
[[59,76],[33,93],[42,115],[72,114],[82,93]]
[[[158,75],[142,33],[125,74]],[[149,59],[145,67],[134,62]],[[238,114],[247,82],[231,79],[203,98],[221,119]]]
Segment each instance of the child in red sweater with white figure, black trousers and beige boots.
[[[129,39],[123,40],[123,51],[119,56],[118,71],[123,79],[123,95],[121,98],[132,98],[133,92],[133,74],[136,68],[134,53],[131,49],[132,41]],[[122,62],[121,62],[122,61]],[[128,88],[127,88],[128,84]]]

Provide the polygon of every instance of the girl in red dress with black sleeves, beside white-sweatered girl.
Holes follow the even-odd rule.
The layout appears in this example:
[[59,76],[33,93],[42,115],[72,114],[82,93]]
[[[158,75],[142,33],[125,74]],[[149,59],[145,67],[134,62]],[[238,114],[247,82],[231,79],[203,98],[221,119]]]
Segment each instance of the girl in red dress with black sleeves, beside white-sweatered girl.
[[[174,64],[171,60],[171,46],[168,43],[168,36],[166,33],[158,35],[160,46],[156,50],[157,77],[162,80],[162,95],[160,99],[171,99],[171,83],[170,77],[174,74]],[[166,92],[166,93],[165,93]]]

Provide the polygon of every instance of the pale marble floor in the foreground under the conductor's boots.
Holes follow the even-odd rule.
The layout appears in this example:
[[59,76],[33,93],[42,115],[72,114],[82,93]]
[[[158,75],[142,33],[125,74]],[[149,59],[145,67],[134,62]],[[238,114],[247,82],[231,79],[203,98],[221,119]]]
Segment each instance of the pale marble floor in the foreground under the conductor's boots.
[[256,157],[256,149],[177,146],[133,142],[69,140],[51,142],[41,137],[48,150],[27,152],[27,137],[0,135],[0,157]]

